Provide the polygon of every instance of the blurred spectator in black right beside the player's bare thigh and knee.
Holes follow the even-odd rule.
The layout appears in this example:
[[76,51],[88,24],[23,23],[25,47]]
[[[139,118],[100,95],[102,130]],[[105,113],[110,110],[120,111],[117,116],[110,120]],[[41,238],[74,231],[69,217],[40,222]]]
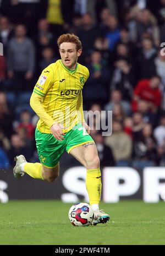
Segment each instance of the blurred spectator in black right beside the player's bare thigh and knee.
[[109,146],[106,146],[104,141],[105,137],[102,136],[100,132],[94,135],[93,139],[95,140],[98,157],[100,159],[100,166],[115,166],[116,162],[112,153],[112,149]]

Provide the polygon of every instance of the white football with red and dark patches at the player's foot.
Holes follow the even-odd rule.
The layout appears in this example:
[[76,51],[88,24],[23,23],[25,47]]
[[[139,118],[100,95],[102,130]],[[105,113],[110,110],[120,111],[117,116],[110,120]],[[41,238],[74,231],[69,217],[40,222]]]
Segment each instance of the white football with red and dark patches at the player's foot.
[[89,226],[94,220],[94,211],[87,203],[74,204],[69,210],[69,220],[74,226]]

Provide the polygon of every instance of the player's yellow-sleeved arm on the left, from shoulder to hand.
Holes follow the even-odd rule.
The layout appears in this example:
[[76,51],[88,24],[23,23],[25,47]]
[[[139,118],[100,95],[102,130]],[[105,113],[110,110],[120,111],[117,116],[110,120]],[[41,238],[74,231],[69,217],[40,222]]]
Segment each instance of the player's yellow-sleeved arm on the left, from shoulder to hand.
[[48,115],[45,108],[42,106],[43,97],[53,85],[53,70],[50,66],[43,70],[40,78],[38,79],[35,88],[30,98],[30,106],[35,111],[38,117],[50,127],[51,133],[57,140],[64,139],[62,135],[63,126],[54,122],[53,118]]

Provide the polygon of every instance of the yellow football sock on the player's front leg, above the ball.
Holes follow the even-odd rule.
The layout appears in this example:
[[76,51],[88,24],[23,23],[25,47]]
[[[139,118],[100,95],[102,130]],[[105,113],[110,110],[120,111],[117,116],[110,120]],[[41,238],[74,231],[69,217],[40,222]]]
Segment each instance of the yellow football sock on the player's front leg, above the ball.
[[101,171],[97,169],[87,169],[86,189],[89,195],[90,205],[99,204],[101,198]]

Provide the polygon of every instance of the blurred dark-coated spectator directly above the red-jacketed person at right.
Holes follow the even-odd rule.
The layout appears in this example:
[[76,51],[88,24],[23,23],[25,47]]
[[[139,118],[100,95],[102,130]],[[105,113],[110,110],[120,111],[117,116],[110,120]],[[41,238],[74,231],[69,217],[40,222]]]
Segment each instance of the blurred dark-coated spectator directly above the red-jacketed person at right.
[[153,47],[151,39],[142,40],[141,52],[138,56],[138,78],[150,79],[156,75],[155,58],[157,56],[156,48]]

